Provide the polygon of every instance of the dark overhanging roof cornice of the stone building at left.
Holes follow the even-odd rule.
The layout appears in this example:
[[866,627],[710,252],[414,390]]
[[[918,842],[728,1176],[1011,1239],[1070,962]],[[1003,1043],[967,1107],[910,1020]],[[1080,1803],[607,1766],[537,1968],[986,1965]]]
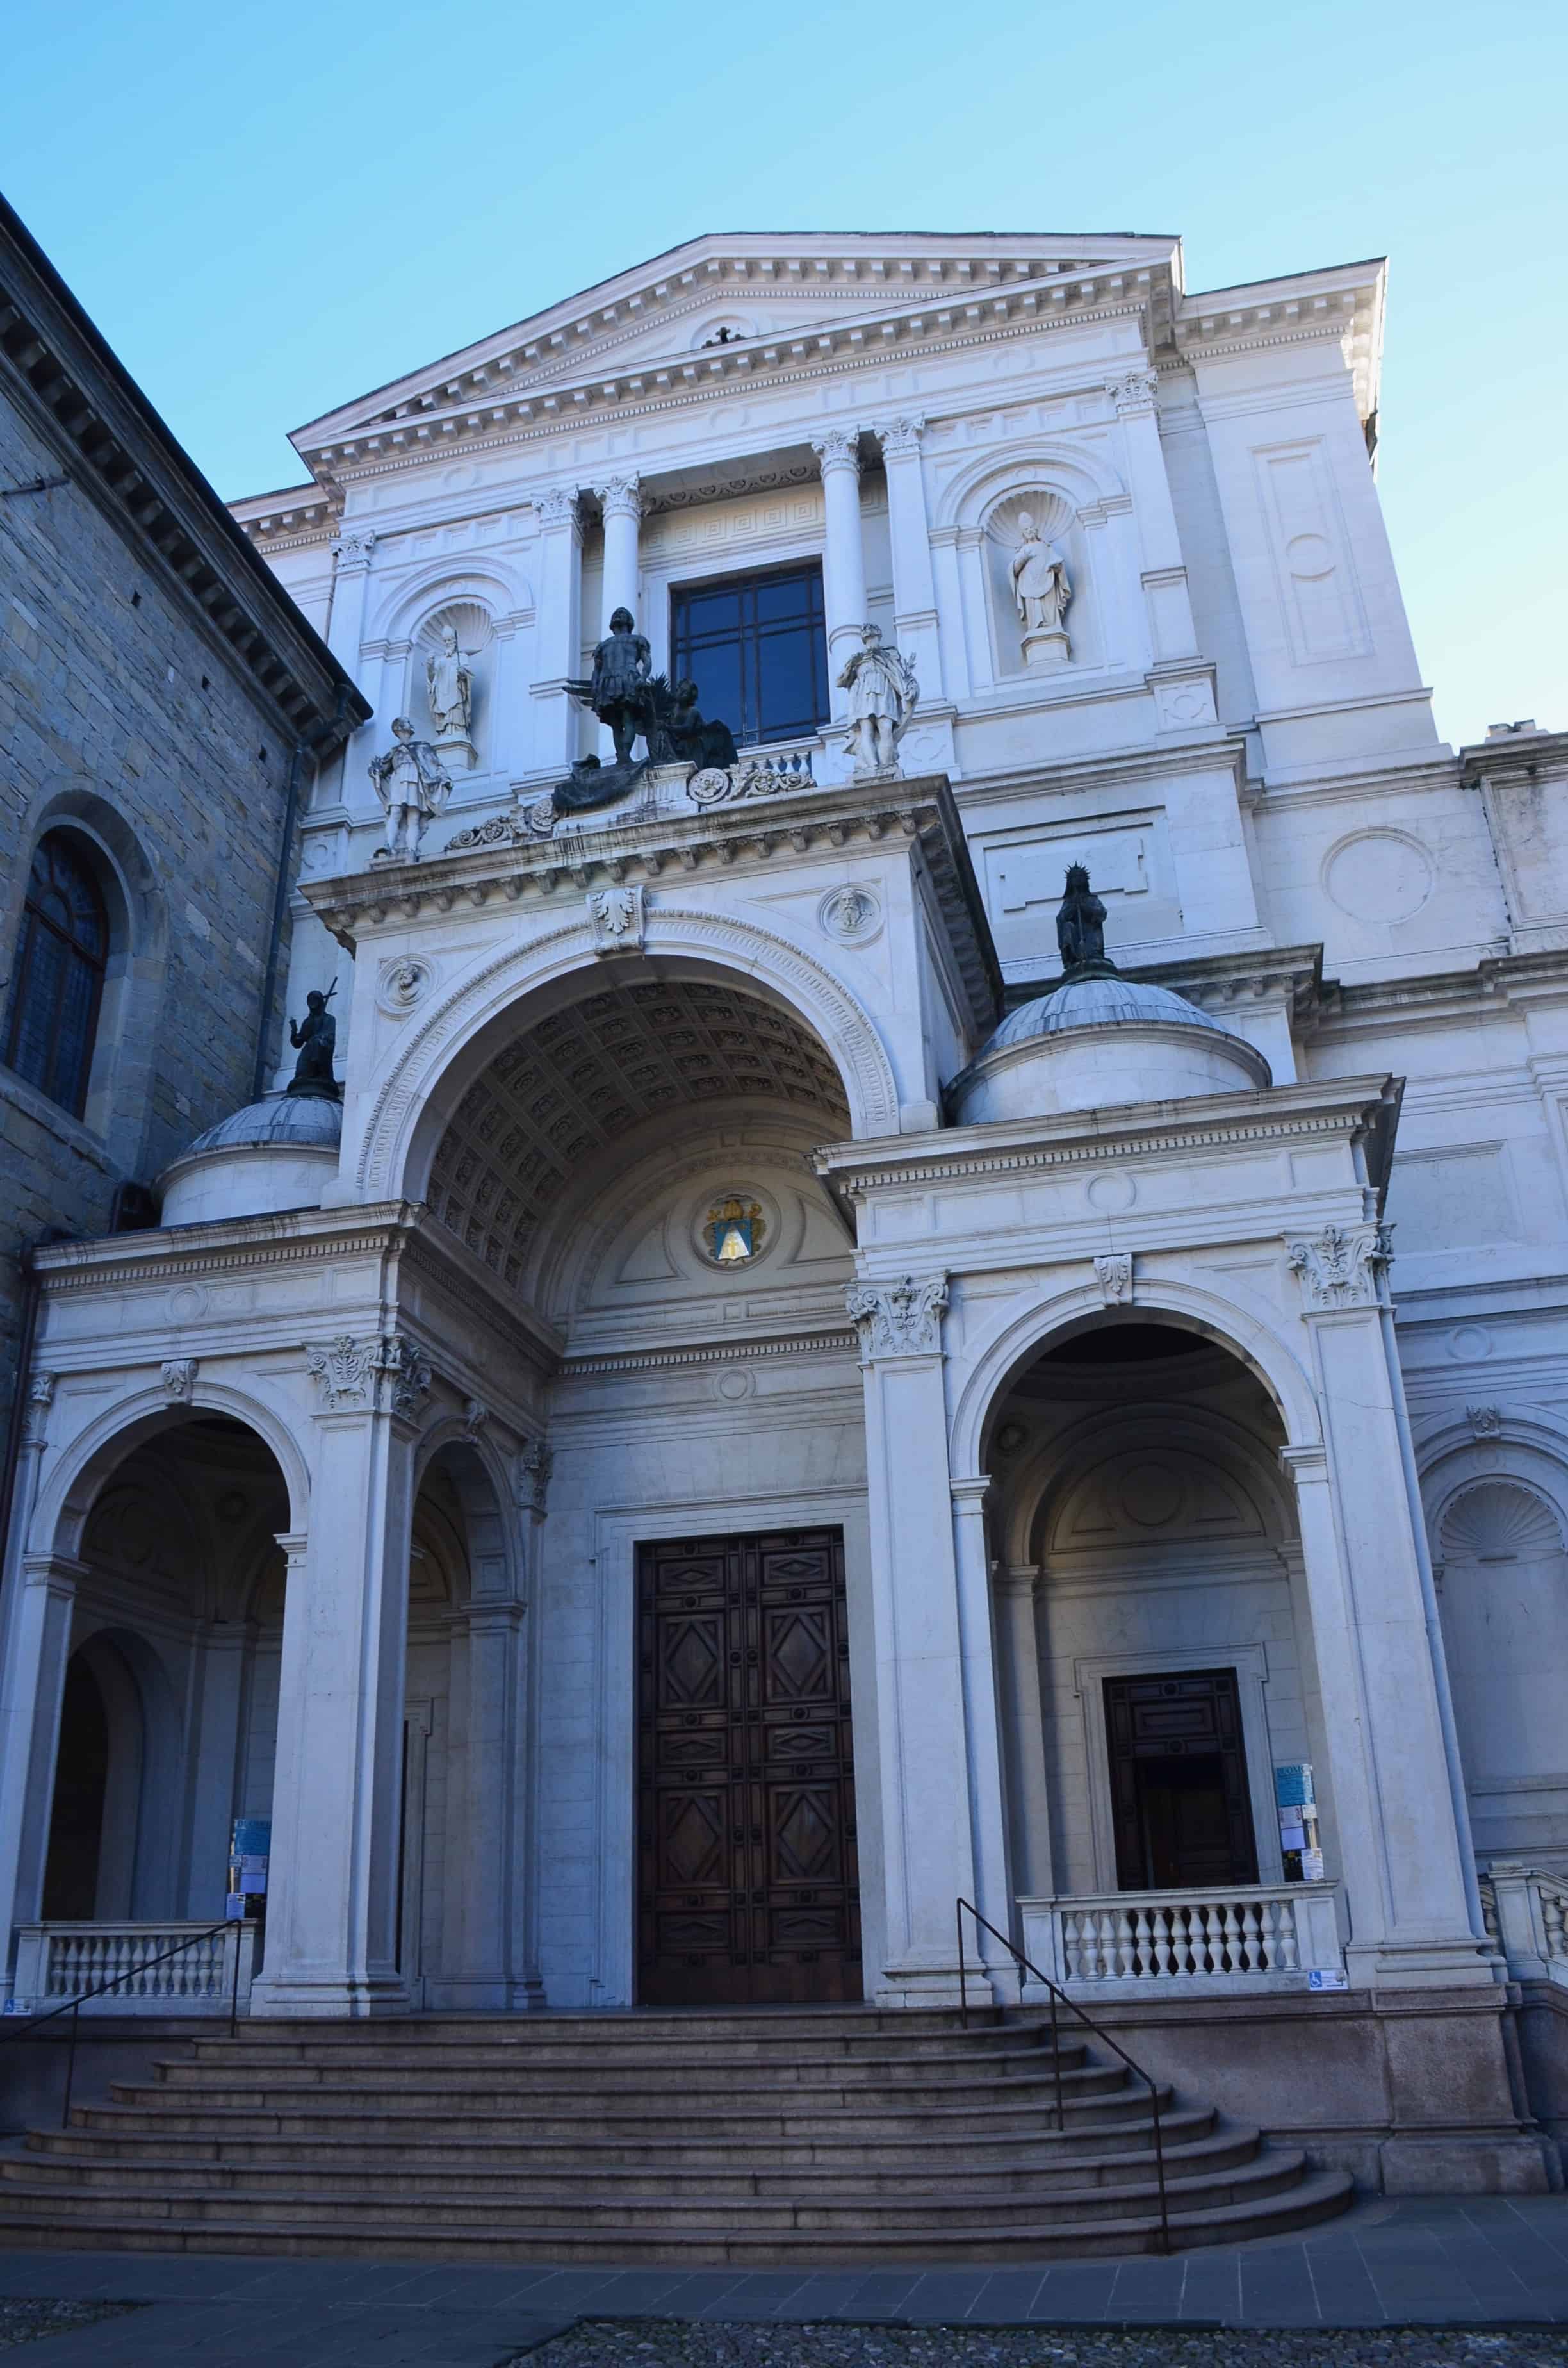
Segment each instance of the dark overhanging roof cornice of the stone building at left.
[[2,199],[0,384],[287,739],[329,748],[367,720],[369,703]]

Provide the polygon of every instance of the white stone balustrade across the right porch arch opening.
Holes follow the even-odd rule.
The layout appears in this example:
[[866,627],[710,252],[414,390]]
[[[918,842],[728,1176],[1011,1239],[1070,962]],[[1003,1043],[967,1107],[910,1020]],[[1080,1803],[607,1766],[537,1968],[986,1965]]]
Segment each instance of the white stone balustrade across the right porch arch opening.
[[[1018,1909],[1023,1954],[1073,1996],[1241,1996],[1343,1973],[1336,1883],[1104,1892]],[[1045,1994],[1026,1984],[1026,1999],[1030,1989]]]

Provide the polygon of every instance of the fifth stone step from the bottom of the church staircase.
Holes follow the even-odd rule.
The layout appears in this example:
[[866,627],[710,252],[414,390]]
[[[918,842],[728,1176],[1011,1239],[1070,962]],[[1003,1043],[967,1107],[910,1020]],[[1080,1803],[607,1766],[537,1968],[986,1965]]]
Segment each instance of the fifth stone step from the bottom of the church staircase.
[[[1120,2067],[1118,2067],[1120,2070]],[[71,2112],[73,2124],[83,2129],[95,2126],[126,2126],[133,2122],[140,2129],[168,2129],[189,2131],[197,2136],[234,2134],[234,2136],[310,2136],[313,2131],[339,2131],[343,2136],[362,2131],[384,2145],[403,2145],[410,2134],[450,2126],[455,2134],[493,2134],[493,2136],[526,2136],[531,2141],[542,2138],[576,2138],[583,2141],[592,2136],[595,2143],[609,2143],[630,2138],[632,2143],[647,2141],[649,2136],[673,2136],[673,2117],[668,2108],[649,2112],[597,2112],[592,2122],[583,2112],[566,2115],[528,2115],[521,2119],[514,2110],[483,2110],[478,2105],[464,2105],[457,2115],[431,2115],[431,2110],[417,2103],[379,2100],[374,2112],[365,2108],[362,2100],[332,2096],[315,2098],[308,2105],[261,2110],[256,2105],[220,2105],[211,2100],[192,2100],[189,2105],[168,2103],[168,2093],[161,2089],[130,2089],[116,2084],[114,2105],[78,2105]],[[1170,2089],[1161,2089],[1161,2110],[1170,2103]],[[1063,2100],[1068,2136],[1080,2129],[1116,2129],[1125,2122],[1149,2115],[1149,2091],[1127,2081],[1123,2074],[1120,2089],[1106,2089],[1087,2096],[1066,2093]],[[801,2110],[779,2110],[777,2105],[753,2105],[746,2112],[720,2112],[718,2108],[701,2115],[694,2143],[708,2138],[734,2138],[746,2145],[770,2145],[775,2141],[815,2141],[815,2138],[853,2138],[857,2143],[914,2143],[924,2136],[952,2136],[969,2134],[971,2138],[983,2131],[990,2143],[1002,2143],[1004,2138],[1037,2138],[1047,2134],[1054,2124],[1054,2091],[1042,2103],[1037,2098],[1023,2098],[1018,2103],[990,2103],[969,2098],[962,2105],[924,2105],[907,2112],[893,2112],[886,2105],[846,2108],[843,2112],[824,2115],[817,2103]]]

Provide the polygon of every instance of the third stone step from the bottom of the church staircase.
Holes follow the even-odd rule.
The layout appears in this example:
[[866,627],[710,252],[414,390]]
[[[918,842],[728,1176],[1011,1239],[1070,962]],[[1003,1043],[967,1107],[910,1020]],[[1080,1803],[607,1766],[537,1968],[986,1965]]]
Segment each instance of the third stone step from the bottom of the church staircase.
[[[1194,2179],[1220,2169],[1248,2164],[1258,2155],[1255,2129],[1225,2129],[1199,2141],[1165,2145],[1165,2176],[1170,2181]],[[981,2162],[964,2167],[883,2164],[883,2167],[836,2167],[808,2164],[758,2169],[746,2164],[550,2164],[495,2169],[488,2162],[471,2162],[462,2155],[410,2160],[400,2155],[386,2162],[372,2148],[334,2148],[332,2160],[320,2153],[275,2157],[246,2157],[242,2162],[192,2160],[187,2153],[144,2157],[135,2162],[102,2160],[85,2153],[26,2153],[0,2157],[0,2181],[21,2186],[54,2183],[64,2190],[88,2193],[135,2193],[144,2181],[156,2193],[213,2195],[246,2193],[258,2198],[324,2198],[334,2209],[339,2198],[362,2195],[367,2183],[377,2198],[410,2198],[422,2205],[483,2195],[493,2205],[557,2205],[557,2202],[613,2202],[635,2198],[680,2198],[696,2202],[767,2200],[803,2205],[824,2198],[874,2200],[879,2205],[919,2200],[926,2207],[940,2198],[943,2209],[964,2198],[983,2195],[997,2200],[1026,2198],[1047,2200],[1075,2188],[1142,2186],[1153,2179],[1153,2150],[1149,2145],[1113,2155],[1066,2155],[1016,2157],[1007,2162]],[[486,2179],[483,2188],[474,2181]]]

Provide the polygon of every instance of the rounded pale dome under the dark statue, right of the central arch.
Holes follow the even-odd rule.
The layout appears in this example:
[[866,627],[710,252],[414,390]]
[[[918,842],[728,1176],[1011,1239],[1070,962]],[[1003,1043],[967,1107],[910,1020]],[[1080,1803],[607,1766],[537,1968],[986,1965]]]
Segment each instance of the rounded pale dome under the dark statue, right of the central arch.
[[1270,1085],[1246,1037],[1170,987],[1104,969],[1009,1011],[947,1092],[962,1127]]

